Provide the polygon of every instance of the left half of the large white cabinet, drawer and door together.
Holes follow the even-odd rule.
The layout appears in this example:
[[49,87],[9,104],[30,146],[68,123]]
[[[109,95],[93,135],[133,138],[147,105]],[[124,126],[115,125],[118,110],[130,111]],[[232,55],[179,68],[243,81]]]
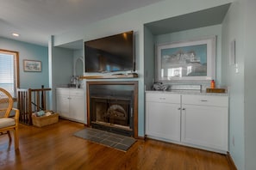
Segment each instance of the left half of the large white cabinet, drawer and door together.
[[180,140],[180,95],[146,95],[146,133],[149,136]]

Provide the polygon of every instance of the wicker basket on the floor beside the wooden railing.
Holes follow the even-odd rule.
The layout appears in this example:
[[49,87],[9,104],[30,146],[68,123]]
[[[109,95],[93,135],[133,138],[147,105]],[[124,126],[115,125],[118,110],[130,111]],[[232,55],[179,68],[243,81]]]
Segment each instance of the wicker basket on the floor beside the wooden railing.
[[53,113],[50,116],[42,116],[42,117],[36,117],[32,116],[32,123],[33,125],[37,127],[42,127],[48,124],[54,124],[59,121],[59,114]]

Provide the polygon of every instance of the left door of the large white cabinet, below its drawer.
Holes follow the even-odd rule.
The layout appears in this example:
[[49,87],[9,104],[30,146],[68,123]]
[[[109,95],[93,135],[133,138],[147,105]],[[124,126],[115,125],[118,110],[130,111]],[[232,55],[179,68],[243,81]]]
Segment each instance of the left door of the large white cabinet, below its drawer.
[[146,134],[179,142],[180,105],[151,101],[146,105]]

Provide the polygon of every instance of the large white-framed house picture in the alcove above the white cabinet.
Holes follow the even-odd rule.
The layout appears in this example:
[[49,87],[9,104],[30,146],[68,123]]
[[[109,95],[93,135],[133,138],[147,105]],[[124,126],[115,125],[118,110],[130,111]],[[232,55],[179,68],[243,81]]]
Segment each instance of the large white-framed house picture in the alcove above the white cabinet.
[[159,82],[215,79],[215,36],[158,45],[156,52]]

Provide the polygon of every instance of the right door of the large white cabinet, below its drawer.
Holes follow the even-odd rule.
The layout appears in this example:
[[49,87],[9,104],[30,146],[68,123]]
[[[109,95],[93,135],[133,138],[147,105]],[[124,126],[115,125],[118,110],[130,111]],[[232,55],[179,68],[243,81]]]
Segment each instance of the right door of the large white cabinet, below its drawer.
[[228,107],[183,105],[182,143],[228,151]]

